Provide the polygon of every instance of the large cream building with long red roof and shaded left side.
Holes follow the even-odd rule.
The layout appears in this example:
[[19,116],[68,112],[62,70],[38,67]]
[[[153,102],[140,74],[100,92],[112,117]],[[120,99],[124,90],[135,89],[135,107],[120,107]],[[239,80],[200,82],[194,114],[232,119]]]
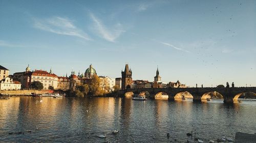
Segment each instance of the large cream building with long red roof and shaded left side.
[[33,81],[41,82],[45,90],[49,89],[50,86],[54,89],[58,87],[58,77],[52,73],[52,70],[50,70],[50,73],[43,70],[30,71],[28,66],[25,72],[14,73],[13,79],[22,84],[22,89],[28,89]]

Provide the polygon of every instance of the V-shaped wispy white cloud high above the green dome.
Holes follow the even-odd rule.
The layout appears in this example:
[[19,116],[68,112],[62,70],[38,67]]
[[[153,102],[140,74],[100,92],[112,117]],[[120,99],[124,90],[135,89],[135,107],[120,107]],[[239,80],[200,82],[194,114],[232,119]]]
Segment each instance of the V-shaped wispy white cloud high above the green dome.
[[117,23],[114,26],[114,29],[111,30],[112,32],[110,32],[110,30],[108,28],[106,28],[106,26],[101,22],[100,19],[98,19],[96,16],[94,16],[93,13],[90,13],[90,16],[94,22],[94,28],[97,31],[97,33],[99,33],[99,35],[104,38],[105,40],[108,40],[110,42],[115,42],[115,40],[123,33],[125,32],[122,29],[122,24]]

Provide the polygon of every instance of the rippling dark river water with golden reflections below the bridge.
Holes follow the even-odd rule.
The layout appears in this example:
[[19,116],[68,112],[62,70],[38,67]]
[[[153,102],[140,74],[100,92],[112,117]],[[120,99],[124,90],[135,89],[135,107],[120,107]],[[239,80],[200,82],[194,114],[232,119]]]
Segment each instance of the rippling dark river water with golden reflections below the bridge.
[[[195,136],[208,142],[234,138],[237,131],[255,133],[255,109],[250,100],[227,105],[222,100],[11,97],[0,100],[0,142],[197,142]],[[191,131],[193,139],[186,135]]]

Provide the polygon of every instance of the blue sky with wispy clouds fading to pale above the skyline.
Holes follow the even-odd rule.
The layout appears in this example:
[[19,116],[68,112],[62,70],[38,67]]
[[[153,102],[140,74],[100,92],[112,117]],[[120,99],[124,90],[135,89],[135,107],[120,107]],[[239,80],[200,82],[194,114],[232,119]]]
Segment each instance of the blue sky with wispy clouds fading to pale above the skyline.
[[0,1],[0,65],[256,87],[256,1]]

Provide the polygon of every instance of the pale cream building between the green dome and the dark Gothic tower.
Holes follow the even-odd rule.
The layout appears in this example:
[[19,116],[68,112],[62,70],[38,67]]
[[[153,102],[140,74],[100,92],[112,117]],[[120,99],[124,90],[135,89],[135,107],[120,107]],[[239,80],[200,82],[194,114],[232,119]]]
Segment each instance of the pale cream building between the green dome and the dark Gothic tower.
[[105,92],[114,91],[114,86],[115,86],[115,79],[114,78],[110,78],[108,76],[99,76],[99,79],[100,79],[100,87]]

